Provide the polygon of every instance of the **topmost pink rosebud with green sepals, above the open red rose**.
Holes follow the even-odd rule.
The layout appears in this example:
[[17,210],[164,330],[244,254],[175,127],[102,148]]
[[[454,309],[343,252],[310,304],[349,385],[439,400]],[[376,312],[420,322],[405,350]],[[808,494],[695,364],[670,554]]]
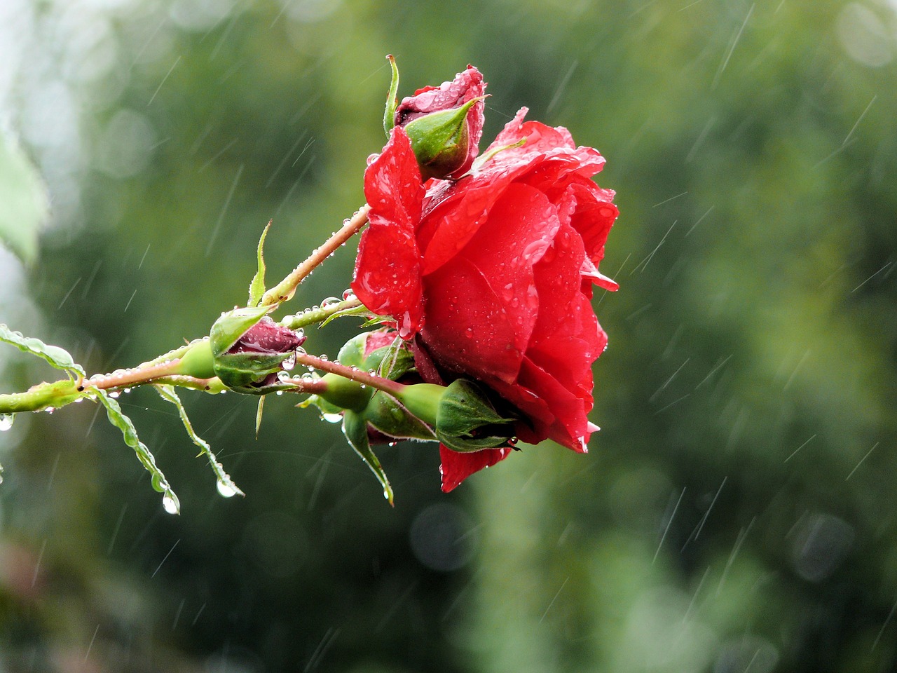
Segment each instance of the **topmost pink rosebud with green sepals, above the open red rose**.
[[[422,179],[457,179],[470,169],[483,135],[483,75],[467,66],[451,82],[426,86],[396,107],[395,61],[385,127],[405,129],[420,165]],[[395,112],[390,114],[392,110]]]

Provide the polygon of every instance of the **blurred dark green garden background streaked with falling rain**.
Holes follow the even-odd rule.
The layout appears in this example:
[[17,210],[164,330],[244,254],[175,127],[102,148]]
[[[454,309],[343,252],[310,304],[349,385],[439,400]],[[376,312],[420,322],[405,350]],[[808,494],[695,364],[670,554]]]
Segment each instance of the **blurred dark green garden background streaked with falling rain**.
[[[897,669],[897,21],[879,0],[5,0],[0,122],[48,183],[0,322],[91,371],[245,302],[361,205],[400,95],[467,63],[484,143],[523,105],[607,157],[602,426],[396,508],[290,399],[121,399],[163,513],[91,405],[0,435],[0,671]],[[347,286],[353,246],[299,305]],[[298,307],[297,307],[298,308]],[[312,332],[335,355],[348,321]],[[0,351],[0,391],[53,376]]]

